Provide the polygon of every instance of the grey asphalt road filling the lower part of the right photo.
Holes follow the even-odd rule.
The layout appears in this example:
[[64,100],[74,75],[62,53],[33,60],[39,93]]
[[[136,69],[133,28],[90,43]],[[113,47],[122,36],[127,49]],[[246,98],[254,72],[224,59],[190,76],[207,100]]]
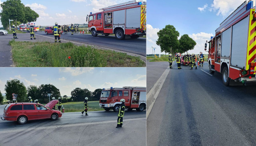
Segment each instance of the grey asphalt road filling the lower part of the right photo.
[[226,87],[208,65],[168,65],[147,61],[147,146],[256,145],[255,86]]

